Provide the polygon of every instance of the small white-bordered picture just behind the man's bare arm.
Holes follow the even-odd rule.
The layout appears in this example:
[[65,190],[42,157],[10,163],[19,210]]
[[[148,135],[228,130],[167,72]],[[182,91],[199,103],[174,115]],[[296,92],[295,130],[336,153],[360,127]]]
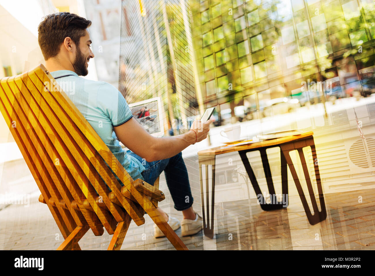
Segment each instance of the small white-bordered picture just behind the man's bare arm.
[[152,136],[164,136],[163,110],[160,97],[129,104],[133,117]]

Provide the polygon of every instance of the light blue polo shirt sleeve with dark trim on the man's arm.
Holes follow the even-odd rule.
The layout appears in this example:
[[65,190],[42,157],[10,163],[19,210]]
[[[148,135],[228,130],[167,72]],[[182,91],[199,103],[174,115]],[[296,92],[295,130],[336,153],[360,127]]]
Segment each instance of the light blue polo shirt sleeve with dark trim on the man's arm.
[[113,85],[103,82],[98,90],[98,107],[117,127],[133,118],[125,98]]

